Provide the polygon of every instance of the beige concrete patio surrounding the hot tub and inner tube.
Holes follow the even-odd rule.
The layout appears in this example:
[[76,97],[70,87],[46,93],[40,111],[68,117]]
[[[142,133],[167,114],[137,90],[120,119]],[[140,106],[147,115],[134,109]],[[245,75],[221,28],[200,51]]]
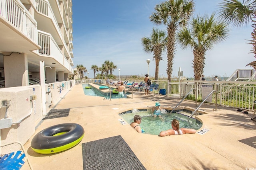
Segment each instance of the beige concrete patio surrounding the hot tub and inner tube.
[[[118,113],[122,111],[154,106],[155,102],[173,108],[180,100],[144,92],[134,92],[133,98],[103,100],[84,95],[82,85],[78,84],[54,106],[54,109],[70,108],[69,116],[36,122],[40,123],[36,133],[60,123],[78,123],[85,131],[82,141],[63,152],[38,154],[30,147],[35,133],[25,148],[34,170],[82,170],[82,143],[121,135],[147,170],[256,169],[256,122],[250,119],[252,111],[247,115],[224,106],[214,111],[215,105],[203,104],[200,111],[208,114],[196,117],[203,123],[201,129],[210,129],[204,135],[159,137],[137,133],[130,125],[118,121]],[[196,109],[194,101],[185,100],[180,106]],[[22,169],[29,169],[28,164]]]

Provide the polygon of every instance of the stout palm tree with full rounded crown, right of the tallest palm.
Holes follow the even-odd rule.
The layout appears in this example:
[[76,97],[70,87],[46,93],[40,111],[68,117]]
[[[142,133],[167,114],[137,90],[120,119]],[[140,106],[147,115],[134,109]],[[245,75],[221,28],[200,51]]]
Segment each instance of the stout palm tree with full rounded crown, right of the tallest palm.
[[204,72],[206,51],[228,37],[228,25],[214,19],[214,14],[197,16],[192,19],[190,28],[184,27],[178,32],[178,42],[183,48],[193,48],[194,79],[200,80]]

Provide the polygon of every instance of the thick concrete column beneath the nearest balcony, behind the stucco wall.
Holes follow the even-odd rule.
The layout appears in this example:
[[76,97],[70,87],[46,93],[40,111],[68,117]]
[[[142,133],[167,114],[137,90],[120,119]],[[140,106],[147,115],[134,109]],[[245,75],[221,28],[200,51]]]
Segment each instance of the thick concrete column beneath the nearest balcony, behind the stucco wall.
[[4,56],[5,87],[28,86],[28,57],[25,53]]

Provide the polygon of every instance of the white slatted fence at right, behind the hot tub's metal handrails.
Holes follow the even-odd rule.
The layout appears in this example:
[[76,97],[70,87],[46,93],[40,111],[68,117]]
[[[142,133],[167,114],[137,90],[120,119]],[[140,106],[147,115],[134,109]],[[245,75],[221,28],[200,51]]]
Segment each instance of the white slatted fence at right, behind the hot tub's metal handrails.
[[[186,81],[181,82],[180,97],[186,96],[186,94],[193,88],[195,92],[189,94],[187,99],[202,101],[204,94],[203,85],[207,85],[211,90],[217,92],[217,101],[215,101],[215,95],[212,95],[211,102],[223,106],[236,107],[241,109],[253,110],[255,108],[254,101],[256,100],[256,82],[248,81]],[[195,94],[197,93],[197,94]]]

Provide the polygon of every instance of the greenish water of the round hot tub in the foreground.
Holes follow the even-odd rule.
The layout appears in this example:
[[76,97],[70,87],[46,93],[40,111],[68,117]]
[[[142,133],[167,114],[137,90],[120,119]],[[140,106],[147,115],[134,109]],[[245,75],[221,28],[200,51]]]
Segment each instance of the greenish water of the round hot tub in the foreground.
[[164,113],[161,113],[163,118],[159,117],[154,118],[152,115],[152,109],[133,109],[129,111],[125,111],[119,113],[119,115],[130,125],[133,122],[134,115],[140,115],[142,117],[142,121],[140,123],[140,127],[145,131],[146,134],[151,135],[159,135],[161,131],[166,131],[168,129],[172,129],[171,122],[173,119],[177,119],[180,122],[180,128],[193,128],[200,129],[202,127],[202,123],[194,118],[190,118],[189,123],[188,113],[192,113],[192,111],[188,109],[178,109],[174,110],[170,116],[169,109],[164,109]]

